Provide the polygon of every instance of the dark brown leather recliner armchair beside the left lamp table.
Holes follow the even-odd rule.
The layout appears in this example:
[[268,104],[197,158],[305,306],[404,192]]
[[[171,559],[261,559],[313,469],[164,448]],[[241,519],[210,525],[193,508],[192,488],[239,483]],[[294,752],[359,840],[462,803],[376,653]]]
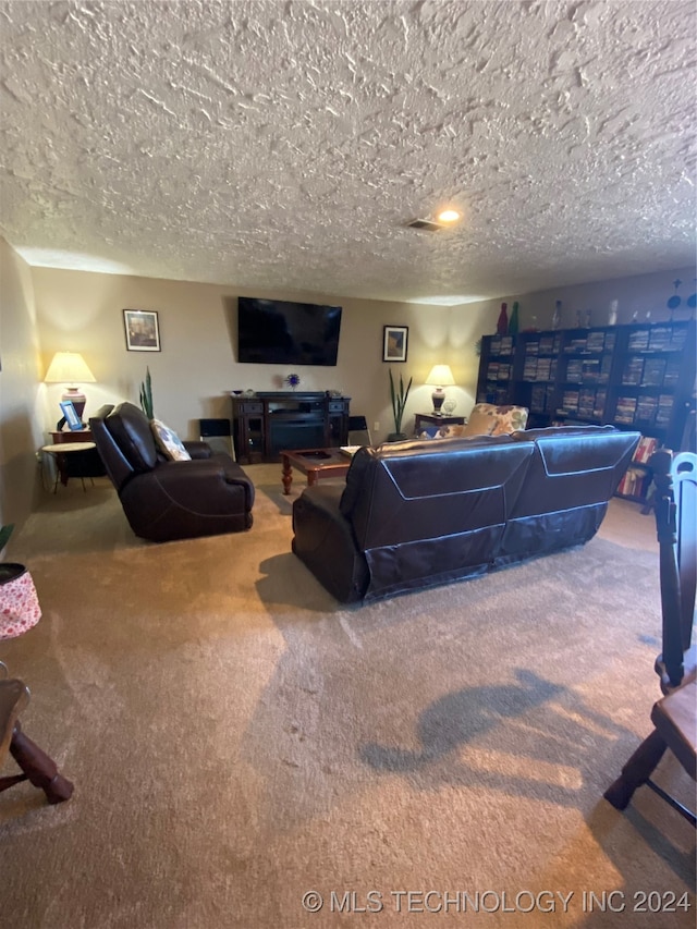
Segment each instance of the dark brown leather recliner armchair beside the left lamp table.
[[147,417],[127,402],[102,406],[89,427],[136,536],[164,542],[252,526],[254,485],[230,455],[184,442],[192,461],[164,459]]

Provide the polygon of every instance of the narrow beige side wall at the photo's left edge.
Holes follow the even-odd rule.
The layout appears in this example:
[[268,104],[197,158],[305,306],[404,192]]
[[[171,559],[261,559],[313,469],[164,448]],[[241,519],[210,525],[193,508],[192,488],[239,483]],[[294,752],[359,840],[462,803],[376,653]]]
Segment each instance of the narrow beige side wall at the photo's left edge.
[[[32,274],[0,237],[0,525],[24,522],[39,493],[40,362]],[[12,542],[8,558],[12,553]]]

